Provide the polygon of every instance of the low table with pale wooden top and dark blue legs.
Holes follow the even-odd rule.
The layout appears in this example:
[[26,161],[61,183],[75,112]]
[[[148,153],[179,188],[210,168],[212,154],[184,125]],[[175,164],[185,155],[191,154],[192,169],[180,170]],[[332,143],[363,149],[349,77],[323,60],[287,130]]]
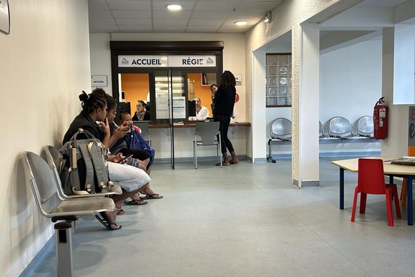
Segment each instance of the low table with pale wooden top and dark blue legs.
[[[367,159],[382,159],[383,161],[398,159],[391,157],[365,157]],[[358,160],[359,159],[347,159],[340,161],[332,161],[340,168],[340,209],[344,209],[344,170],[350,172],[358,172]],[[415,166],[402,166],[391,163],[383,163],[383,171],[385,175],[389,176],[389,184],[394,184],[394,177],[407,178],[407,223],[408,225],[414,224],[412,217],[412,179],[415,177]]]

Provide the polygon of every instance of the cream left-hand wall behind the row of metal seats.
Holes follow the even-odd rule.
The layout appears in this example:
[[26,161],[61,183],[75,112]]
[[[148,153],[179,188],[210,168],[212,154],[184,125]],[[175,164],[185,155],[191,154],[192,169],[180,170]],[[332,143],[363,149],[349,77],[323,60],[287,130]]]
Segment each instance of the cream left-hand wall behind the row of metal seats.
[[19,159],[57,145],[90,84],[87,1],[9,1],[10,35],[0,33],[0,271],[17,276],[53,233],[39,215]]

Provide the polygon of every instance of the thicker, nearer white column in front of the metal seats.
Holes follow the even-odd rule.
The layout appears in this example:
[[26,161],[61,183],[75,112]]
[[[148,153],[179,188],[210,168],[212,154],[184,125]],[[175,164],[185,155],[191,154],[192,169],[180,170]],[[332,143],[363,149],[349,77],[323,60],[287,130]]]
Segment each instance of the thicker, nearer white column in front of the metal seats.
[[293,26],[293,184],[319,186],[319,64],[317,24]]

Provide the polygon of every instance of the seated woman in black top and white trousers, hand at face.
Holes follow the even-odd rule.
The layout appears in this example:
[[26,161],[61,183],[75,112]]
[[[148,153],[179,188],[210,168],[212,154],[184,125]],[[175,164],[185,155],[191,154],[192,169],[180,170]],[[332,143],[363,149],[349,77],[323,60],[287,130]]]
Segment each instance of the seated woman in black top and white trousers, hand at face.
[[[82,101],[82,111],[75,117],[69,126],[68,131],[66,131],[63,143],[70,141],[73,134],[75,134],[78,129],[83,128],[86,131],[89,131],[95,139],[100,139],[100,141],[108,147],[111,135],[107,120],[107,102],[105,98],[100,95],[100,93],[86,94],[85,92],[82,92],[79,98]],[[106,123],[100,127],[96,123],[97,121],[105,121]],[[82,138],[81,134],[78,138],[86,139],[86,136]],[[115,157],[108,155],[107,158],[109,179],[117,182],[122,188],[121,195],[113,195],[111,197],[116,204],[116,207],[120,208],[122,202],[124,202],[127,197],[136,195],[139,190],[143,190],[148,186],[150,177],[144,170],[117,163],[122,158],[120,154]],[[111,231],[121,229],[121,226],[116,224],[117,211],[104,212],[101,213],[101,215],[103,220],[99,220],[107,227],[107,229]]]

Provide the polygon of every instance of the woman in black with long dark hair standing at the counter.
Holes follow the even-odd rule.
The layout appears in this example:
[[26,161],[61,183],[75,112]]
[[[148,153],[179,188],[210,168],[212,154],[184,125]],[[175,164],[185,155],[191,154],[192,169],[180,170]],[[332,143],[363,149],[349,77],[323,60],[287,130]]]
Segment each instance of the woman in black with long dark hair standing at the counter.
[[[237,154],[235,154],[232,143],[228,139],[228,128],[230,118],[232,117],[232,111],[235,105],[235,96],[237,95],[237,89],[235,89],[235,76],[230,71],[223,72],[221,76],[221,85],[214,94],[214,120],[219,121],[219,132],[221,132],[221,151],[223,155],[223,166],[229,166],[230,164],[239,163]],[[232,159],[228,161],[228,148]],[[216,163],[216,166],[220,166],[221,163]]]

